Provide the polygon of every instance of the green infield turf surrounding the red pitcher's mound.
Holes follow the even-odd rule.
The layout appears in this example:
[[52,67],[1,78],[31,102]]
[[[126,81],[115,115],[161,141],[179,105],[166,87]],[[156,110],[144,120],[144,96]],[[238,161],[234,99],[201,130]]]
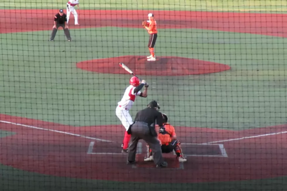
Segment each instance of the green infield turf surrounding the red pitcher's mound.
[[[0,113],[77,126],[119,124],[115,107],[130,75],[82,71],[76,62],[145,55],[146,32],[113,27],[71,30],[72,42],[62,30],[54,42],[48,41],[49,34],[1,34]],[[131,114],[157,99],[174,125],[241,130],[286,123],[286,43],[285,38],[264,35],[160,30],[158,56],[215,61],[231,70],[146,76],[156,88],[151,88],[148,99],[136,101]],[[65,51],[62,57],[60,49]]]

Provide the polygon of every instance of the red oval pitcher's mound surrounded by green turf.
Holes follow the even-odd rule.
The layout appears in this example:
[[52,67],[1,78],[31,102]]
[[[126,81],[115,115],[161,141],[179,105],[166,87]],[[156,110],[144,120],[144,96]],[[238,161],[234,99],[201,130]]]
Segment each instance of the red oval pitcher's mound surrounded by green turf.
[[172,56],[156,57],[156,61],[147,61],[143,56],[94,59],[78,62],[77,67],[98,73],[127,74],[119,63],[124,63],[137,75],[195,75],[230,69],[230,66],[225,64]]

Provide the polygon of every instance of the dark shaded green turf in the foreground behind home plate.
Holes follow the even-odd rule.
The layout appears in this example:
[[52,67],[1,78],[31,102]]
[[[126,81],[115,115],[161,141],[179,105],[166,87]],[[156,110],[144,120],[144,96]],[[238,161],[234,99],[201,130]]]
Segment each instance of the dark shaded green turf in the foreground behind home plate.
[[[183,177],[184,178],[184,177]],[[237,182],[200,183],[200,184],[151,184],[123,183],[103,180],[84,180],[61,178],[37,173],[28,173],[0,164],[1,191],[126,191],[129,190],[197,190],[197,191],[283,191],[286,190],[287,177],[249,180]]]

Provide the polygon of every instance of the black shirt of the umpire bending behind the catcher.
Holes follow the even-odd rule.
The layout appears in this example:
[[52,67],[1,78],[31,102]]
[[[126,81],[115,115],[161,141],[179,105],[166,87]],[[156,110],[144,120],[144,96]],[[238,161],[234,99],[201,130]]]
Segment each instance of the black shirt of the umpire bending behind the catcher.
[[136,113],[136,117],[134,118],[134,122],[141,121],[153,127],[157,124],[160,127],[163,126],[163,115],[159,111],[154,108],[147,107]]

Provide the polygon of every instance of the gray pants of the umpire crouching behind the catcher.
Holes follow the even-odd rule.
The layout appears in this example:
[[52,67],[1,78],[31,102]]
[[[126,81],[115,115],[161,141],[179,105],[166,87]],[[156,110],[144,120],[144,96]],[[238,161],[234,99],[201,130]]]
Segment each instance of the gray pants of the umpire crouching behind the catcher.
[[163,154],[161,152],[160,143],[157,137],[153,137],[150,133],[147,123],[136,122],[131,126],[131,140],[132,143],[128,149],[129,162],[134,162],[136,160],[136,148],[139,140],[143,139],[150,147],[153,152],[153,161],[155,164],[160,165],[164,162]]

